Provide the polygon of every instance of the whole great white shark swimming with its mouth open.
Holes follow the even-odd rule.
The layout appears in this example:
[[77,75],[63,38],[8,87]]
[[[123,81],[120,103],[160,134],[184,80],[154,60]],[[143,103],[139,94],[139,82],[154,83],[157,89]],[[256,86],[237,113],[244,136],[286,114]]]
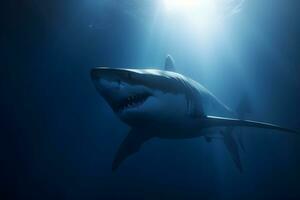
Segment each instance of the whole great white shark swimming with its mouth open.
[[[241,119],[200,83],[176,73],[174,60],[167,56],[165,69],[96,67],[91,77],[97,91],[130,131],[121,143],[112,164],[116,170],[130,155],[152,138],[185,139],[203,136],[210,142],[217,129],[237,168],[242,171],[234,127],[257,127],[284,132],[281,126]],[[216,113],[223,113],[216,116]],[[221,128],[221,130],[220,130]],[[242,143],[240,143],[241,147]]]

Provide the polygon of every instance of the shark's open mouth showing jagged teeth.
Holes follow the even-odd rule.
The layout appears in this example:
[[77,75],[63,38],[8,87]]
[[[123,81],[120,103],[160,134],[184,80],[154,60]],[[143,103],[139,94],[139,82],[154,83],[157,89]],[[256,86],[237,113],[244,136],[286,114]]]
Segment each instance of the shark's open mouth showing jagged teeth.
[[134,94],[120,101],[115,107],[115,112],[122,112],[142,105],[151,95],[149,93]]

